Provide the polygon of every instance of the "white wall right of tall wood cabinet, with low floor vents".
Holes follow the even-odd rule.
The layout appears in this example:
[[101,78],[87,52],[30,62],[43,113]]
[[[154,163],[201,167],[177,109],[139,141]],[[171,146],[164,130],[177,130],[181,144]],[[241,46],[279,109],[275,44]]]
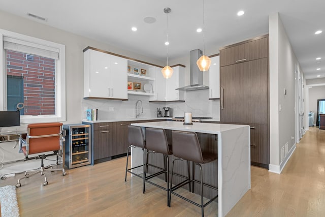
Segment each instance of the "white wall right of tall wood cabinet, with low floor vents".
[[[269,17],[269,30],[270,171],[280,173],[296,146],[291,137],[295,137],[295,71],[300,67],[278,13]],[[286,143],[289,151],[281,162],[281,148]]]

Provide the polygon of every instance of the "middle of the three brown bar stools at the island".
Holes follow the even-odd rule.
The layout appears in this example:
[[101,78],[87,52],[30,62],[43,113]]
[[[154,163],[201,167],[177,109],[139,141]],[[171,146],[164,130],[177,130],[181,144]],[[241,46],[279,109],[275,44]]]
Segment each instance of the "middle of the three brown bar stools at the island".
[[[146,172],[148,169],[148,166],[153,166],[157,169],[160,169],[159,172],[156,172],[152,175],[146,176],[146,173],[144,173],[144,180],[145,182],[148,182],[150,184],[155,185],[156,187],[160,189],[164,189],[167,191],[167,205],[169,204],[169,155],[173,154],[171,145],[168,144],[166,132],[164,129],[158,129],[158,128],[146,128],[146,147],[147,147],[147,159],[149,157],[150,153],[162,153],[164,154],[164,168],[157,167],[152,164],[146,164]],[[163,186],[160,186],[156,183],[153,183],[149,181],[149,179],[160,175],[165,174],[165,181],[167,181],[167,187],[164,188]],[[145,183],[143,185],[143,190],[145,191]]]

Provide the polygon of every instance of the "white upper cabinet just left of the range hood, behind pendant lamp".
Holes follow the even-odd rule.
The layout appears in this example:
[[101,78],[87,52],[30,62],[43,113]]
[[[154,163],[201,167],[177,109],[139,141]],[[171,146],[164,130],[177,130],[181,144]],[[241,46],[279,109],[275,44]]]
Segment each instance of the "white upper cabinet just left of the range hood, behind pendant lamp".
[[177,88],[183,87],[185,68],[181,66],[173,67],[174,73],[172,77],[166,80],[166,101],[183,101],[185,93]]

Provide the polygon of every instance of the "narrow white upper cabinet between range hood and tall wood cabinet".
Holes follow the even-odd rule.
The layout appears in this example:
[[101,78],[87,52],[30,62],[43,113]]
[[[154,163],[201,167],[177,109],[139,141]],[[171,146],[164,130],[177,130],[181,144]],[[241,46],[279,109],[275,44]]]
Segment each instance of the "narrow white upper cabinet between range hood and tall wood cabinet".
[[211,57],[211,66],[209,70],[209,99],[220,99],[219,55]]

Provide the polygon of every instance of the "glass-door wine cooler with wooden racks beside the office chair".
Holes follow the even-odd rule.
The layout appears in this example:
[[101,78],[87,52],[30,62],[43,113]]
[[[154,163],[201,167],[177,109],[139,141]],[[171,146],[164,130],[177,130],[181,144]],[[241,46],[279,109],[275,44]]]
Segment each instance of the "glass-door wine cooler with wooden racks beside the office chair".
[[66,166],[75,168],[91,162],[91,126],[82,124],[63,125],[66,130]]

